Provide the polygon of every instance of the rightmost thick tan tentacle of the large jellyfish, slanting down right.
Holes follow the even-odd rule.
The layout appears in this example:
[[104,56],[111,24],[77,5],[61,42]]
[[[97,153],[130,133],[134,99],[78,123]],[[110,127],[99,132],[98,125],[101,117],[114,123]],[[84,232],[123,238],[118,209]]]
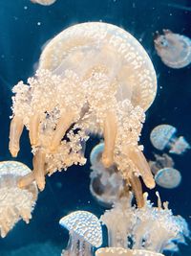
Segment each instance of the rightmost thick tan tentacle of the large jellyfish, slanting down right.
[[153,175],[151,173],[149,164],[147,163],[144,154],[136,149],[135,147],[131,147],[128,149],[128,155],[130,159],[133,161],[133,163],[138,168],[138,171],[140,175],[142,176],[142,179],[145,183],[145,185],[153,189],[155,187],[155,180],[153,178]]

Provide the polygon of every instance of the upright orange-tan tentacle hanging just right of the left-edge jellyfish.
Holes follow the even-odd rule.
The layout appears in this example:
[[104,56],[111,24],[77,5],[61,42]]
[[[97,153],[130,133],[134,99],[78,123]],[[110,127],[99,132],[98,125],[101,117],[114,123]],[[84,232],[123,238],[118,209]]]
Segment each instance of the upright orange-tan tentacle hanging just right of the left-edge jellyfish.
[[33,175],[40,191],[45,187],[45,153],[37,151],[33,156]]

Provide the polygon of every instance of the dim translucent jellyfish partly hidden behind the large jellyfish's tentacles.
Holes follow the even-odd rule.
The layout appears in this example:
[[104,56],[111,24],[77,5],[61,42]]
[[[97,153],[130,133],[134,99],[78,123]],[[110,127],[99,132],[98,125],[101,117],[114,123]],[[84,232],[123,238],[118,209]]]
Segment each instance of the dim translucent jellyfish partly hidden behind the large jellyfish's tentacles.
[[124,181],[115,165],[105,168],[101,162],[104,143],[99,143],[90,155],[92,163],[90,191],[96,200],[104,205],[111,206],[124,191]]

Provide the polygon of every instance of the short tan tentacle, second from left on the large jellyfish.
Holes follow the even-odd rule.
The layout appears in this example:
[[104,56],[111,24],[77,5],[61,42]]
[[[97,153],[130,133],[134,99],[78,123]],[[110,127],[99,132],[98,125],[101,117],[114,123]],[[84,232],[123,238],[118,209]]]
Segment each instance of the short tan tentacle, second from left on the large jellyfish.
[[38,114],[34,114],[30,120],[30,142],[33,145],[37,145],[38,143],[38,131],[40,125],[40,117]]

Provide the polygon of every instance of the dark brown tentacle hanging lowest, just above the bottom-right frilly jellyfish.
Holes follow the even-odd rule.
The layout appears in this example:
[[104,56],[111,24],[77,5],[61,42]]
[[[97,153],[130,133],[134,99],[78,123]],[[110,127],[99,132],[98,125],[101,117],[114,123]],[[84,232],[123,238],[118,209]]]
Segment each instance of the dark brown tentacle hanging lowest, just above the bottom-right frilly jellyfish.
[[135,195],[135,198],[136,198],[136,201],[138,204],[138,208],[143,207],[144,206],[144,198],[143,198],[143,193],[142,193],[142,185],[141,185],[141,182],[140,182],[138,176],[133,173],[129,179],[129,183],[134,192],[134,195]]

